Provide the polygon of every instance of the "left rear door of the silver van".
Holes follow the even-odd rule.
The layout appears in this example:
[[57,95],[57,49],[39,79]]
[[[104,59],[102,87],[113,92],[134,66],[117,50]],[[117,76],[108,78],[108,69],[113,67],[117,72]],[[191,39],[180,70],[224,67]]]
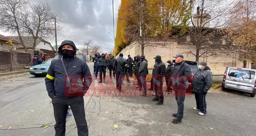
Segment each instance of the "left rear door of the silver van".
[[230,68],[226,75],[225,87],[230,89],[238,89],[242,70],[237,68]]

